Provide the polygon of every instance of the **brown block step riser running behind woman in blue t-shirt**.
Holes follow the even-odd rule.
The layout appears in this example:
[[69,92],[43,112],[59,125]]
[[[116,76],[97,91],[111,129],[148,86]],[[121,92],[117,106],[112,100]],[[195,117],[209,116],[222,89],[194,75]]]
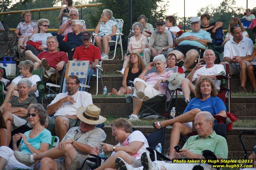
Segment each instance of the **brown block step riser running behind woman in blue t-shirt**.
[[[227,101],[228,100],[226,100],[226,107],[228,108]],[[256,97],[232,97],[231,102],[231,112],[238,115],[240,119],[256,118]],[[102,115],[118,115],[128,118],[128,115],[132,113],[132,103],[126,103],[125,97],[93,98],[93,104],[101,108]],[[176,100],[174,99],[168,112],[175,106],[177,113],[183,113],[185,110],[185,108],[179,106],[179,103],[176,105]],[[161,106],[158,111],[165,113],[164,105]]]

